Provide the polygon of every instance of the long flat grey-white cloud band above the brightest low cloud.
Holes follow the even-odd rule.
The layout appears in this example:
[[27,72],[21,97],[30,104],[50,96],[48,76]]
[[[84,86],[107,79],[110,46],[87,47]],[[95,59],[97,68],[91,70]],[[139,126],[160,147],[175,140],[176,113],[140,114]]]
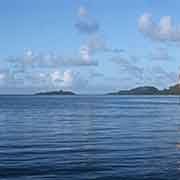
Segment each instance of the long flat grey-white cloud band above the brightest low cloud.
[[[85,56],[85,52],[84,52]],[[87,59],[80,54],[76,57],[65,57],[54,53],[33,53],[28,50],[23,56],[5,58],[4,62],[14,71],[24,72],[32,68],[57,68],[62,66],[96,66],[97,61]]]

